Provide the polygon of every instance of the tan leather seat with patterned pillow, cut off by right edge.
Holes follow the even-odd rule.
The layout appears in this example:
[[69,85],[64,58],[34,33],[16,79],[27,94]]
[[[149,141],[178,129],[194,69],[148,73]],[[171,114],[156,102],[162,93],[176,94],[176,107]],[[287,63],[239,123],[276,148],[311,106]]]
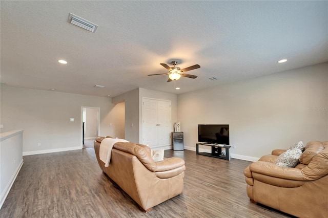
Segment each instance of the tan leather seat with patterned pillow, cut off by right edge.
[[285,150],[273,150],[245,170],[252,202],[297,217],[328,217],[328,141],[306,144],[295,168],[276,165]]

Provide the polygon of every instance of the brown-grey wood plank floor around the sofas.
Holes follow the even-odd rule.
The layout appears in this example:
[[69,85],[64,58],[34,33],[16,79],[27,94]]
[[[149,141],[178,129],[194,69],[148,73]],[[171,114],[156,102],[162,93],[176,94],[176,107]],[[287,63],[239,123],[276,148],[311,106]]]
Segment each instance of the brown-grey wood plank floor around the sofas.
[[290,217],[256,205],[246,194],[243,170],[251,162],[166,150],[186,161],[185,189],[142,212],[100,170],[93,148],[24,157],[1,217]]

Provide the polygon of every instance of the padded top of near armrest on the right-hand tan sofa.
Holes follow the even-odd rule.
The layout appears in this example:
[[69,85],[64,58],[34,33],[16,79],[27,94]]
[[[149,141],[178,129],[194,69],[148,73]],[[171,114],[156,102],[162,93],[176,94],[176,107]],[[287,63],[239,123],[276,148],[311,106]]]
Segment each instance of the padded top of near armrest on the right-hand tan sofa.
[[295,180],[295,181],[313,181],[313,179],[309,178],[306,175],[303,175],[301,169],[291,168],[291,167],[281,167],[281,166],[277,166],[275,163],[270,163],[265,161],[257,161],[252,163],[250,165],[250,170],[252,172],[256,172],[262,175],[275,177],[275,178]]

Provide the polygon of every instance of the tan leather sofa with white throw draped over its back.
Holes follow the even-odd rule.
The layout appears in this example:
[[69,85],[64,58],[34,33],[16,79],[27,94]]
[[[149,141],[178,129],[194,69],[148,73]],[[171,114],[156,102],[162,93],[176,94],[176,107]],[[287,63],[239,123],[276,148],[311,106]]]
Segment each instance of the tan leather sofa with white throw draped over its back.
[[99,159],[99,147],[103,139],[97,137],[94,142],[100,168],[145,212],[182,193],[185,161],[173,157],[154,162],[148,146],[117,142],[113,146],[109,166],[105,167],[105,163]]

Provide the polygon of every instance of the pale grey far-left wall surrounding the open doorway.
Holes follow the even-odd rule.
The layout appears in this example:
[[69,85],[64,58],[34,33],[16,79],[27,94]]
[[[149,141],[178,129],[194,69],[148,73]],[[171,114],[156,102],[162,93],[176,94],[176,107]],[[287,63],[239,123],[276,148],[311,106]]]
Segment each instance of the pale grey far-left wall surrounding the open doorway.
[[82,147],[81,106],[99,107],[100,135],[111,135],[110,98],[1,85],[4,128],[0,130],[24,129],[23,155],[78,149]]

